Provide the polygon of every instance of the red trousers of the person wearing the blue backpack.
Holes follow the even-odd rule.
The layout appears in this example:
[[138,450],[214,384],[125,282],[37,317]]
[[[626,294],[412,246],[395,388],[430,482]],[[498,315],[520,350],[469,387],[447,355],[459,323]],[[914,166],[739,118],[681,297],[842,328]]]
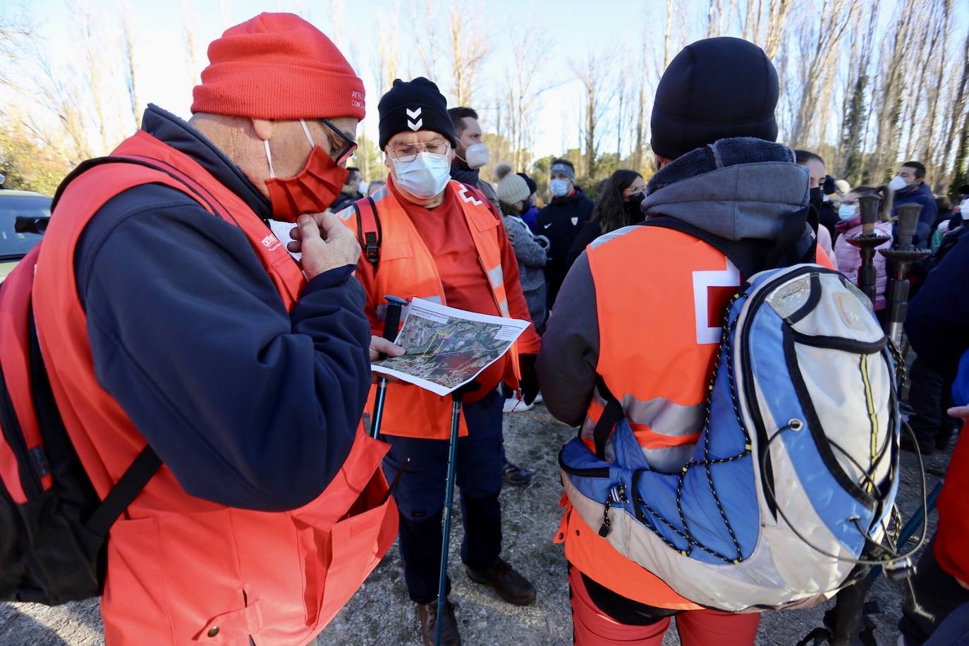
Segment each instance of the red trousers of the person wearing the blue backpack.
[[[572,623],[576,646],[661,646],[670,628],[670,617],[649,626],[620,624],[589,598],[576,568],[569,568],[572,585]],[[719,610],[687,610],[676,615],[676,631],[682,646],[751,646],[761,615]]]

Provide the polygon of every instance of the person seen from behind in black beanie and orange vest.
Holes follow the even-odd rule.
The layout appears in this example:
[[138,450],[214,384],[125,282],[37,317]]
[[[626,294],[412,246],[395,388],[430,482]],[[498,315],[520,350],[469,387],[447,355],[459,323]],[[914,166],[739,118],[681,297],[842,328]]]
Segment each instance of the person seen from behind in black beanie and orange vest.
[[[735,38],[687,46],[661,78],[651,128],[659,171],[642,210],[646,225],[665,218],[682,229],[627,227],[590,245],[562,284],[538,359],[548,411],[581,426],[590,442],[606,402],[602,380],[644,429],[637,435],[651,468],[679,471],[693,454],[721,336],[712,322],[723,320],[741,281],[809,201],[807,169],[774,143],[777,98],[764,51]],[[720,238],[741,266],[686,231]],[[812,245],[804,223],[789,256]],[[710,279],[702,297],[701,272]],[[626,559],[585,525],[574,503],[567,500],[556,541],[569,561],[576,644],[658,645],[673,615],[685,646],[753,643],[756,613],[719,612],[678,595],[675,581]]]

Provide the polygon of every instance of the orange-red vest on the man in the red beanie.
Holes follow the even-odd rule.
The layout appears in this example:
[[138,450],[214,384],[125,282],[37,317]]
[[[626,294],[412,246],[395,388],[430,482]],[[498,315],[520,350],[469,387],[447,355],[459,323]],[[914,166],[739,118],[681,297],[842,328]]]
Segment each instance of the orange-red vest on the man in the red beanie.
[[[134,164],[91,169],[64,192],[41,245],[33,290],[41,349],[57,408],[102,498],[145,441],[98,384],[78,299],[75,250],[98,209],[134,186],[171,186],[245,233],[287,308],[305,285],[297,264],[252,209],[193,159],[144,132],[112,154],[164,166],[192,189]],[[107,643],[308,642],[396,536],[396,508],[384,500],[388,487],[380,469],[386,451],[358,429],[327,489],[302,508],[275,513],[190,496],[163,465],[109,533],[101,605]]]

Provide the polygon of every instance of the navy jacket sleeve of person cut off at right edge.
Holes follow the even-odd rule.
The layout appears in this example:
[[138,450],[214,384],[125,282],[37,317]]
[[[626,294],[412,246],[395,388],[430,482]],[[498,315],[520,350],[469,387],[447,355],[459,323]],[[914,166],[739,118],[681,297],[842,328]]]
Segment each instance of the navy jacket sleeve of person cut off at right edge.
[[905,332],[912,347],[947,380],[955,376],[961,354],[969,348],[969,234],[929,272],[912,299]]

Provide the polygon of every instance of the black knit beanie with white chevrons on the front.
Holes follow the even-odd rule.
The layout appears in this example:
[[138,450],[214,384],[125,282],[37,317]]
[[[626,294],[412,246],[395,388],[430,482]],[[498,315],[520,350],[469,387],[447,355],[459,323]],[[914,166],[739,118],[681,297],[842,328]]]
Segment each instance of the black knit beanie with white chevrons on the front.
[[454,124],[448,114],[448,100],[437,85],[424,77],[410,82],[397,78],[391,89],[377,104],[380,112],[380,148],[397,133],[430,130],[439,133],[457,146]]

